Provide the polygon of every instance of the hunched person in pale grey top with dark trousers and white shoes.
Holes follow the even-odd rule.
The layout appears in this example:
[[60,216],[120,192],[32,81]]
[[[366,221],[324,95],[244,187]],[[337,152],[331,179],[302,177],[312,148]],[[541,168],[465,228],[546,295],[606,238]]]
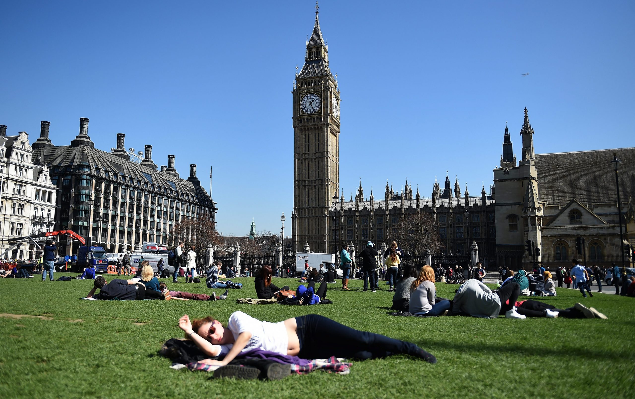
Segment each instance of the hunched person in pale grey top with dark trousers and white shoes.
[[[520,274],[516,273],[516,275]],[[457,289],[452,304],[452,313],[460,315],[467,313],[473,317],[497,318],[505,315],[507,318],[525,318],[514,308],[520,294],[520,286],[516,281],[507,282],[492,292],[490,287],[476,278],[467,280]],[[509,301],[508,301],[509,300]]]

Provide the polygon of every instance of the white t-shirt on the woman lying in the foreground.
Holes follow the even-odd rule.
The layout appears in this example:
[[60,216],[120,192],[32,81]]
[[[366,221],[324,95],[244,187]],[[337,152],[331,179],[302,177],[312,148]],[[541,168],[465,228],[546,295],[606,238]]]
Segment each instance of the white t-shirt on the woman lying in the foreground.
[[[261,322],[257,318],[253,318],[242,311],[235,311],[229,317],[229,322],[225,329],[230,330],[232,334],[234,334],[234,339],[236,339],[241,332],[251,332],[251,339],[242,350],[243,352],[258,348],[286,355],[289,339],[286,336],[284,322]],[[232,344],[221,345],[220,354],[227,354],[232,346]]]

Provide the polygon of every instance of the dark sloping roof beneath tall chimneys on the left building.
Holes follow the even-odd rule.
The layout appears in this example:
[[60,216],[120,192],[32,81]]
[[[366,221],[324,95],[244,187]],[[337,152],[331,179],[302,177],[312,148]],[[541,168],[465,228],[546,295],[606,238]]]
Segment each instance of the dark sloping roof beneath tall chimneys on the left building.
[[[200,185],[195,185],[190,181],[170,176],[170,174],[150,169],[131,160],[126,160],[116,155],[110,154],[97,148],[80,145],[72,147],[62,145],[56,147],[44,147],[36,150],[36,154],[44,159],[48,166],[90,166],[91,174],[96,174],[96,169],[110,171],[114,174],[123,174],[126,178],[147,181],[155,186],[162,186],[168,190],[176,188],[179,193],[189,193],[196,195],[196,202],[212,207],[213,202],[210,195]],[[102,172],[103,175],[103,172]],[[150,177],[150,179],[148,178]]]

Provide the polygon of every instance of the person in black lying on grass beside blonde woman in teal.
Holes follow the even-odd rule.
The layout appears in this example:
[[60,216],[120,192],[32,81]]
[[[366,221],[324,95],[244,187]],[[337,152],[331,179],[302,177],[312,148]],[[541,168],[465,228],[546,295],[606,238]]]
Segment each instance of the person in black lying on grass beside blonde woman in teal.
[[[143,282],[134,280],[119,280],[115,278],[107,282],[104,276],[95,278],[93,289],[88,292],[86,298],[118,299],[120,301],[140,301],[142,299],[171,299],[170,294],[146,289]],[[100,290],[99,294],[94,295],[96,290]]]

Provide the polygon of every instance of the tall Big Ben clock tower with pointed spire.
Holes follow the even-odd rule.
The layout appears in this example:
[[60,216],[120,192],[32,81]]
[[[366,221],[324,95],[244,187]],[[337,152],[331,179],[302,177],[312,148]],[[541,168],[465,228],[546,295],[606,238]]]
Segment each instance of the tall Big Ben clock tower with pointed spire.
[[340,182],[340,91],[328,68],[317,6],[304,67],[293,88],[293,132],[293,246],[297,252],[304,252],[307,243],[311,252],[333,252],[327,215]]

